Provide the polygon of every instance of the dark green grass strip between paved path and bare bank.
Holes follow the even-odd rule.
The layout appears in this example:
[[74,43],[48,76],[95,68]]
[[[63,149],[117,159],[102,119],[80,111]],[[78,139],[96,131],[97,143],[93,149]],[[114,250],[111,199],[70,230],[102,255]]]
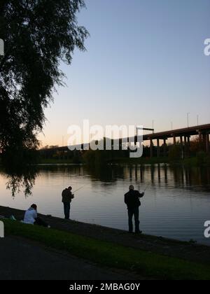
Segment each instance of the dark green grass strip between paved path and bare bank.
[[207,265],[119,246],[111,242],[59,230],[48,230],[9,220],[3,220],[3,222],[7,235],[26,237],[48,247],[68,251],[79,258],[97,262],[99,265],[127,269],[153,279],[210,279],[210,267]]

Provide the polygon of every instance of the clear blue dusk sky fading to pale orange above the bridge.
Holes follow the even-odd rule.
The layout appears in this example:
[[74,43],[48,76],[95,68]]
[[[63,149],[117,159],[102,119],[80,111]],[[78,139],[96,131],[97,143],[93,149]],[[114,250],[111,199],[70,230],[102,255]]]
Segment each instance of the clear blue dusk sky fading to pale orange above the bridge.
[[90,37],[61,65],[42,146],[67,144],[71,125],[143,125],[155,132],[210,123],[209,0],[86,0]]

